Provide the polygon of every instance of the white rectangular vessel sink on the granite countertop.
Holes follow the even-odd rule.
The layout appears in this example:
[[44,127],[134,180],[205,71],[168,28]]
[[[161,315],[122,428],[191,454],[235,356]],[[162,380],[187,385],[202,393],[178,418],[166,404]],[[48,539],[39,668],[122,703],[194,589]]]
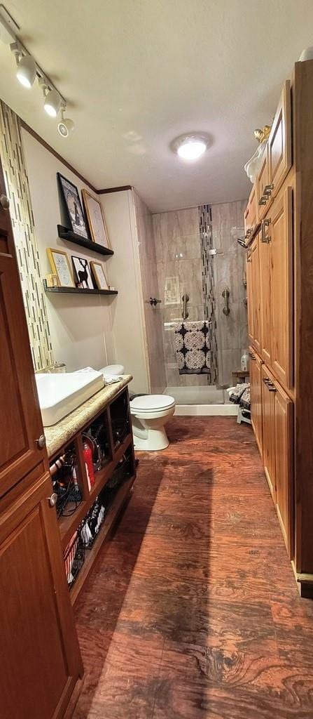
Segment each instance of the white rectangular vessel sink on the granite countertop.
[[44,427],[51,427],[86,402],[104,385],[101,372],[36,375]]

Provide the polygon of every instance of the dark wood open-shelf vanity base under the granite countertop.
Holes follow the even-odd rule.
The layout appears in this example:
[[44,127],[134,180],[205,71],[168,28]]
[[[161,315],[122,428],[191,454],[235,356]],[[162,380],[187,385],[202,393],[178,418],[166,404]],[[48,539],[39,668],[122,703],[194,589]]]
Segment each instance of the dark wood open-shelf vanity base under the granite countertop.
[[[115,427],[121,427],[121,439],[116,435]],[[99,431],[98,443],[102,449],[102,466],[100,470],[95,470],[94,461],[94,484],[88,482],[85,457],[83,454],[83,441],[86,434],[91,433],[95,436]],[[85,561],[82,564],[80,572],[77,574],[72,586],[70,587],[70,595],[72,603],[82,589],[87,574],[89,574],[95,557],[97,556],[107,534],[110,532],[115,519],[117,518],[122,505],[127,500],[127,496],[133,487],[135,481],[135,453],[133,448],[133,434],[131,432],[130,408],[127,388],[122,388],[110,403],[95,414],[92,421],[75,434],[71,440],[71,451],[74,453],[74,467],[76,480],[81,493],[81,502],[76,505],[74,512],[69,511],[74,508],[74,503],[70,502],[64,508],[64,515],[59,516],[59,534],[62,545],[62,551],[65,552],[74,534],[80,536],[82,523],[85,523],[90,510],[95,507],[95,501],[99,495],[105,493],[105,516],[100,526],[99,532],[95,535],[94,544],[90,549],[85,549]],[[56,459],[64,456],[64,452],[68,450],[69,443],[58,449],[57,453],[50,459],[50,466],[54,464]],[[57,475],[52,477],[55,480]],[[61,479],[62,481],[62,479]],[[100,503],[100,500],[97,502]]]

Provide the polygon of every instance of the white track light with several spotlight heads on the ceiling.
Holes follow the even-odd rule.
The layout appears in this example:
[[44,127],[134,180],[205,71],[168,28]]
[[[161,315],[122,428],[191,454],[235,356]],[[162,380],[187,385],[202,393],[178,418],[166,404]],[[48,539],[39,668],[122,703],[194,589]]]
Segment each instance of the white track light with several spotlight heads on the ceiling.
[[44,73],[42,68],[36,63],[32,55],[29,55],[27,47],[17,37],[16,33],[20,32],[19,25],[4,5],[0,5],[0,40],[10,46],[16,59],[16,78],[25,88],[32,88],[37,78],[39,86],[44,92],[44,109],[50,117],[57,117],[59,110],[62,109],[62,122],[58,124],[59,133],[62,137],[68,137],[69,133],[74,129],[74,122],[69,118],[64,118],[64,112],[67,108],[67,102],[61,93],[54,86],[52,81]]

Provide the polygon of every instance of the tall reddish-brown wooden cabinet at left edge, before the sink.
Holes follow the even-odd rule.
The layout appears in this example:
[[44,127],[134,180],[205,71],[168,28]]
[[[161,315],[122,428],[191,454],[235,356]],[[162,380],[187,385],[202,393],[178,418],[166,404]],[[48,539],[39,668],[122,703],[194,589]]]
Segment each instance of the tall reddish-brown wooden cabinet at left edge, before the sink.
[[61,719],[82,675],[0,165],[2,719]]

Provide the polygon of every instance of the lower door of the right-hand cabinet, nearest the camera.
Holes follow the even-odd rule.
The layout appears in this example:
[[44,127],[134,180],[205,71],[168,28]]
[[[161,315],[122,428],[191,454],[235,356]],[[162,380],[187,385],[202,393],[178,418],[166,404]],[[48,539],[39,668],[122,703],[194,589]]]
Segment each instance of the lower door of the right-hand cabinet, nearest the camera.
[[293,403],[275,382],[276,511],[289,559],[294,557]]

